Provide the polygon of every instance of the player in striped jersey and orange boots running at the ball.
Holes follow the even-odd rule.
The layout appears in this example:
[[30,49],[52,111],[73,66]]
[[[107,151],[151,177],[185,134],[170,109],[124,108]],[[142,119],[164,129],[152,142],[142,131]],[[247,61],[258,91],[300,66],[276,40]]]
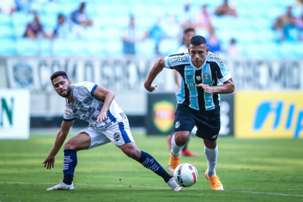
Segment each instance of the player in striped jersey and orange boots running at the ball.
[[188,54],[175,54],[156,62],[144,83],[146,90],[152,92],[157,89],[153,81],[164,67],[175,69],[182,76],[181,88],[177,93],[169,171],[172,174],[179,165],[180,150],[196,126],[196,136],[203,138],[205,144],[208,164],[205,177],[212,189],[223,190],[215,170],[217,137],[220,131],[220,94],[232,93],[235,88],[231,75],[222,59],[209,52],[206,39],[199,35],[190,39]]

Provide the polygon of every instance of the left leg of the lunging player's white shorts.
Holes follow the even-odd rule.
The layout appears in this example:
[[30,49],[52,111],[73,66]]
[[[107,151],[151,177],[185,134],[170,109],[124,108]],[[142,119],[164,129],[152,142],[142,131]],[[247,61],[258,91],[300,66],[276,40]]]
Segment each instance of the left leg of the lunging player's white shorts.
[[111,140],[104,134],[103,130],[96,129],[94,127],[87,127],[79,133],[86,133],[90,137],[88,148],[94,148],[111,142]]

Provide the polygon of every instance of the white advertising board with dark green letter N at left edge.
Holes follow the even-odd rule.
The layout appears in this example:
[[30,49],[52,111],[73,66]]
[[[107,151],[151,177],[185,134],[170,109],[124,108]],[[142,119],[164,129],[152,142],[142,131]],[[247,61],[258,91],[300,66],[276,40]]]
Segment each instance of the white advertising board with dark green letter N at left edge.
[[29,138],[29,91],[0,89],[0,139]]

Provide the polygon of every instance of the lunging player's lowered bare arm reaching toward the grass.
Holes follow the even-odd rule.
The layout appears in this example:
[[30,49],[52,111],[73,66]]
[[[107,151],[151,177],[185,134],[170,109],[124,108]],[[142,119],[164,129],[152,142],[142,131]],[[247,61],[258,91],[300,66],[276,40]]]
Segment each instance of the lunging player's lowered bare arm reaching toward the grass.
[[58,151],[60,150],[64,140],[66,139],[66,136],[68,135],[69,129],[72,127],[74,121],[62,121],[61,128],[57,134],[55,144],[47,155],[46,159],[42,162],[44,164],[44,168],[51,169],[54,168],[55,163],[55,156],[57,155]]

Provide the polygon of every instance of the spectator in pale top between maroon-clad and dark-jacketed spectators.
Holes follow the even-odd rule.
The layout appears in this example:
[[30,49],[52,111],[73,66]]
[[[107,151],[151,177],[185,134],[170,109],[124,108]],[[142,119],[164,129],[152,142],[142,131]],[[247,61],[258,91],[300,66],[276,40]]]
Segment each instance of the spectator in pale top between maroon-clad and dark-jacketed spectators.
[[54,29],[54,38],[81,38],[81,29],[72,21],[66,20],[63,14],[58,15],[58,23]]

